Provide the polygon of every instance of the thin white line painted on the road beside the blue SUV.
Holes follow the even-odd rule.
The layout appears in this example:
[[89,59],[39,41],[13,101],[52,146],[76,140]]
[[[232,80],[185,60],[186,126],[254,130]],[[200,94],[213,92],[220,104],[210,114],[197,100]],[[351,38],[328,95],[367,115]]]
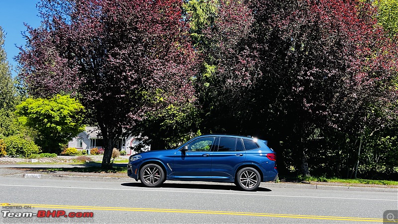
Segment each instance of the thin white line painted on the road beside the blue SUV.
[[253,193],[230,193],[230,192],[198,192],[198,191],[170,191],[170,190],[148,190],[148,189],[116,189],[116,188],[81,188],[81,187],[59,187],[59,186],[36,186],[36,185],[8,185],[9,187],[32,187],[32,188],[65,188],[65,189],[83,189],[83,190],[112,190],[112,191],[151,191],[151,192],[173,192],[173,193],[193,193],[193,194],[219,194],[219,195],[247,195],[247,196],[265,196],[265,197],[284,197],[284,198],[313,198],[313,199],[341,199],[341,200],[365,200],[365,201],[389,201],[398,202],[393,199],[372,199],[372,198],[339,198],[339,197],[315,197],[315,196],[296,196],[296,195],[270,195]]

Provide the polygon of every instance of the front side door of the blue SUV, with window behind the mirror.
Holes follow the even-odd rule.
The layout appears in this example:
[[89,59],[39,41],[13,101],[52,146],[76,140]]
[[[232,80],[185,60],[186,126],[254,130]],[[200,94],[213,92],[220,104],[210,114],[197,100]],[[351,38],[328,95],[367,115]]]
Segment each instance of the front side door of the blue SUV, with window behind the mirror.
[[174,179],[211,179],[211,156],[216,137],[202,137],[187,144],[188,151],[174,157]]

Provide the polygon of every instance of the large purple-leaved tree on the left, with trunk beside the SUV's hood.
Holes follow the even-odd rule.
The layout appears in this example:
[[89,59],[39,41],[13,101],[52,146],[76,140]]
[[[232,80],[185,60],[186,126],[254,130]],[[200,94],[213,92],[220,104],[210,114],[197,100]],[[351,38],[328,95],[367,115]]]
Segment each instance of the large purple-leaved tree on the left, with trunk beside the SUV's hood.
[[182,1],[43,0],[43,26],[28,27],[18,61],[30,94],[76,93],[105,142],[102,166],[123,127],[163,102],[191,99],[195,54]]

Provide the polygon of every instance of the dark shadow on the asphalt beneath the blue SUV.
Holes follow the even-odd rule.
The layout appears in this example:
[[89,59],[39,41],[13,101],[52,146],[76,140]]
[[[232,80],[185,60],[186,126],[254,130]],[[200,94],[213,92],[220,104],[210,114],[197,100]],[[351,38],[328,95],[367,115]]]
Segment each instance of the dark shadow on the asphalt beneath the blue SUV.
[[[143,187],[140,182],[123,183],[122,186],[126,187]],[[177,184],[177,183],[163,183],[160,188],[179,188],[179,189],[204,189],[204,190],[226,190],[226,191],[243,191],[235,185],[220,185],[220,184]],[[269,192],[272,191],[268,188],[259,187],[257,191]]]

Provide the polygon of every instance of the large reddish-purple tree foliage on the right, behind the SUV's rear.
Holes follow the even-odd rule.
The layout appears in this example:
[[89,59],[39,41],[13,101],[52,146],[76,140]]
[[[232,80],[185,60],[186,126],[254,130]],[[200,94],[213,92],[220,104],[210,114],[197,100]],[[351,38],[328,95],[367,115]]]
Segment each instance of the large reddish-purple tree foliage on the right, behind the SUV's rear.
[[[309,175],[308,163],[320,159],[337,173],[344,162],[358,167],[360,139],[397,115],[397,45],[376,25],[374,8],[357,0],[217,7],[201,30],[210,43],[202,59],[215,66],[211,78],[206,68],[197,76],[201,130],[272,139],[282,172]],[[348,161],[336,158],[339,147]]]

